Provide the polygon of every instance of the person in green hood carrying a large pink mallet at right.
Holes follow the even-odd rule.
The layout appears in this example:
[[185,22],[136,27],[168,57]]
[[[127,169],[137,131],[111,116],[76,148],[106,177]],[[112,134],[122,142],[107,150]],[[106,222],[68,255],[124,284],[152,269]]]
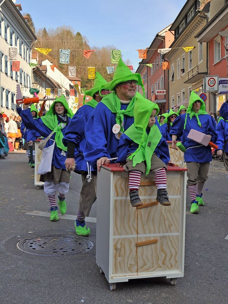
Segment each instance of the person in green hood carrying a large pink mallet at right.
[[176,147],[177,136],[182,136],[182,144],[186,151],[184,160],[187,165],[188,188],[191,195],[191,213],[198,213],[199,207],[203,206],[202,189],[208,179],[212,152],[209,146],[205,147],[194,140],[188,138],[191,129],[202,132],[211,137],[213,143],[216,142],[216,121],[205,111],[205,104],[194,92],[191,92],[189,106],[185,115],[179,115],[172,125],[170,135],[172,136],[172,146]]

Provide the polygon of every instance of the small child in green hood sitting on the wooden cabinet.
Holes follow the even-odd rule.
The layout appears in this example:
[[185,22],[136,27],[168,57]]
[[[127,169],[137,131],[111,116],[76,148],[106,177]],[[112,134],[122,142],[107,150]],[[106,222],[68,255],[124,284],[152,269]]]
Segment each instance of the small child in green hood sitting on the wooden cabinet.
[[159,107],[156,103],[137,98],[134,108],[134,123],[121,135],[117,147],[117,163],[126,163],[129,171],[129,195],[132,207],[143,205],[139,198],[141,175],[149,171],[155,173],[157,202],[170,206],[166,188],[166,169],[170,160],[169,148],[163,138],[156,116]]

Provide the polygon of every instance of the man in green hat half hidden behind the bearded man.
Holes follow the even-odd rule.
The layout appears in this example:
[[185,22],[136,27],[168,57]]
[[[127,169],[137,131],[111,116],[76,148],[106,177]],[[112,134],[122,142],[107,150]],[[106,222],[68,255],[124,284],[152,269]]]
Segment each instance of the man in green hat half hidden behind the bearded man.
[[[86,144],[85,128],[89,117],[93,110],[102,100],[99,94],[101,85],[107,84],[107,81],[96,72],[94,87],[85,92],[84,105],[80,107],[70,123],[68,124],[63,138],[63,143],[67,146],[67,158],[65,161],[68,170],[74,170],[82,176],[82,188],[79,198],[78,215],[75,220],[75,230],[78,235],[88,236],[90,229],[86,228],[85,218],[89,216],[89,212],[93,203],[96,201],[96,166],[91,167],[85,161],[83,152]],[[109,94],[111,91],[102,90],[102,95]],[[86,95],[93,99],[85,103]]]

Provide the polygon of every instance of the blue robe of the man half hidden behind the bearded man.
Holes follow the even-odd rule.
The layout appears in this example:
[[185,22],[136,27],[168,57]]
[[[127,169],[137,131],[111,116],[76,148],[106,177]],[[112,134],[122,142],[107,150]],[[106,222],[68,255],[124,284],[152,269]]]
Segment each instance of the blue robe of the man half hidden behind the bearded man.
[[[75,144],[74,159],[76,163],[76,171],[87,171],[87,163],[83,156],[86,145],[85,128],[93,110],[93,107],[86,104],[80,107],[71,119],[71,122],[68,124],[63,138],[63,144],[65,147],[67,147],[68,141]],[[96,170],[92,168],[91,171]]]

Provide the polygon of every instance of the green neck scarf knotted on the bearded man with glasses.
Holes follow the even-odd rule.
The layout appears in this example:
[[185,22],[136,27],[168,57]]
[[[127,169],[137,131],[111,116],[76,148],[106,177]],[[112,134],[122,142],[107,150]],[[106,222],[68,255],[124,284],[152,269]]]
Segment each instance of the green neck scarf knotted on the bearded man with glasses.
[[123,121],[124,121],[124,115],[131,116],[133,117],[133,111],[134,111],[134,106],[136,102],[135,96],[132,98],[131,102],[129,103],[128,107],[126,110],[121,110],[121,102],[120,99],[118,98],[116,92],[113,92],[109,95],[106,95],[101,102],[103,102],[104,105],[107,106],[108,109],[112,113],[116,114],[116,123],[120,125],[120,131],[124,132],[124,128],[122,126]]

